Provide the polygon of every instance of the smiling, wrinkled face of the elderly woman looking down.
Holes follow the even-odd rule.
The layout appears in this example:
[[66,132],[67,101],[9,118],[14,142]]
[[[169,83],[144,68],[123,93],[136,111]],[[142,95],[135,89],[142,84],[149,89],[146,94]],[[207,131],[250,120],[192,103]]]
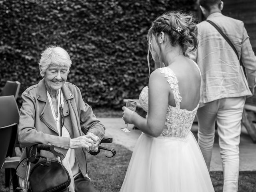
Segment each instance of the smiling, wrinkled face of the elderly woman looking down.
[[46,88],[58,91],[68,78],[68,67],[51,65],[44,73]]

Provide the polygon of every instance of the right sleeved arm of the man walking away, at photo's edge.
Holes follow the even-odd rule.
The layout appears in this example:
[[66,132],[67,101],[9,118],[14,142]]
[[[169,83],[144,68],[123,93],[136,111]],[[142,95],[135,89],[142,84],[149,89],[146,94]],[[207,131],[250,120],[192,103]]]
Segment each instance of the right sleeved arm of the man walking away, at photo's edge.
[[242,63],[246,70],[248,86],[254,94],[254,88],[256,87],[256,56],[252,50],[249,36],[243,24],[243,39],[241,47]]

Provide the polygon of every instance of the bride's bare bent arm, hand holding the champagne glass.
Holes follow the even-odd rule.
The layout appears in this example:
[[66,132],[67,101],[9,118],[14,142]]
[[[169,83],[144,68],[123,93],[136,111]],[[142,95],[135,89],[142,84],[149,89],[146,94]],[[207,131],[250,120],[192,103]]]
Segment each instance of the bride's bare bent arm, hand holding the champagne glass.
[[148,118],[145,119],[123,107],[125,122],[134,124],[150,136],[158,137],[164,130],[169,94],[170,85],[166,78],[160,73],[160,70],[155,70],[150,75],[148,85]]

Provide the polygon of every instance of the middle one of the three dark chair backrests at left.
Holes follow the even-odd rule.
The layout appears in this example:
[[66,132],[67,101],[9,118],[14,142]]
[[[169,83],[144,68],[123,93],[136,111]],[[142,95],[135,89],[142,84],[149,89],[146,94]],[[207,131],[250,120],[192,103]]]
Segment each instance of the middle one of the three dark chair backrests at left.
[[13,95],[0,96],[0,127],[18,124],[20,112]]

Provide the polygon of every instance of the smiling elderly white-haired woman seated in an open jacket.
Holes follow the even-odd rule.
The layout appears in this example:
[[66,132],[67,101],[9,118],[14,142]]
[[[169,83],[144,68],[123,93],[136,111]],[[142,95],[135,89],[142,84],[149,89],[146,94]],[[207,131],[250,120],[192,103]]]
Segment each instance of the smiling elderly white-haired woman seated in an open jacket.
[[[59,46],[42,52],[39,70],[43,79],[22,94],[18,140],[21,147],[54,145],[54,154],[41,154],[63,162],[71,178],[69,191],[93,192],[85,150],[98,151],[105,127],[84,103],[79,88],[66,82],[71,63],[68,52]],[[21,160],[17,169],[20,184],[26,174],[26,150]]]

